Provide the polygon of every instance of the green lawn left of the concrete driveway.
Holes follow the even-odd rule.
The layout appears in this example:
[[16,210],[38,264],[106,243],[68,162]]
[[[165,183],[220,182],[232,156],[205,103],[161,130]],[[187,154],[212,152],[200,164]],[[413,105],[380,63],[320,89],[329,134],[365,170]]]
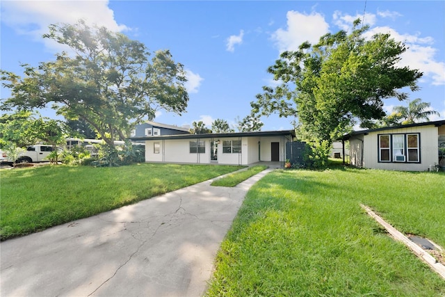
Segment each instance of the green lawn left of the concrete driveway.
[[0,239],[93,216],[241,168],[143,163],[1,170]]

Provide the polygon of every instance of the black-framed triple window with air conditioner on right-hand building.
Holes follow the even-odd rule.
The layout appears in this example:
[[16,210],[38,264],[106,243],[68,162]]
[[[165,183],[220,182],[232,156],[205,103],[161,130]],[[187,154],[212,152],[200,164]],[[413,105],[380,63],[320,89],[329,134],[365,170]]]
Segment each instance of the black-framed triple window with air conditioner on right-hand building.
[[420,162],[420,134],[380,134],[378,161],[394,163]]

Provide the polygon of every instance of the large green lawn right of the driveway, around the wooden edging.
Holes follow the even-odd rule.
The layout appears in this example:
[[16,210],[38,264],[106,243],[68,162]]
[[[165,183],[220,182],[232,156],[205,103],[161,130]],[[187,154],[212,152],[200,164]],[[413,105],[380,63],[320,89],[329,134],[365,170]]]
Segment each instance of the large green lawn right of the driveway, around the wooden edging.
[[445,247],[445,175],[278,170],[252,186],[207,296],[444,296],[445,281],[361,209]]

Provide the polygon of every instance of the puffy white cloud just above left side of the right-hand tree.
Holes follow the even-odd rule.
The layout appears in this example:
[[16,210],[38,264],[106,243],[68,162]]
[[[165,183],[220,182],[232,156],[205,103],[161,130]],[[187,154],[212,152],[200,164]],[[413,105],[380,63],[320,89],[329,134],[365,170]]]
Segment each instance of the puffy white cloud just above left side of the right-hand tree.
[[287,28],[280,28],[272,34],[272,40],[280,53],[282,51],[295,51],[306,41],[316,43],[329,29],[325,17],[319,13],[305,15],[291,10],[287,12],[286,17]]

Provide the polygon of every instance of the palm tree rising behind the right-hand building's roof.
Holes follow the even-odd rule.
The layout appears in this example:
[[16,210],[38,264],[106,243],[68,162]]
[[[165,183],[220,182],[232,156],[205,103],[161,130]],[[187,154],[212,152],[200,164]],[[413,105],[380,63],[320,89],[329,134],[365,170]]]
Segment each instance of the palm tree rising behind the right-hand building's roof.
[[393,113],[401,115],[401,118],[404,119],[403,125],[414,124],[417,120],[428,122],[430,115],[439,115],[437,111],[429,110],[430,105],[430,103],[422,102],[420,98],[417,98],[412,100],[408,106],[394,106]]

